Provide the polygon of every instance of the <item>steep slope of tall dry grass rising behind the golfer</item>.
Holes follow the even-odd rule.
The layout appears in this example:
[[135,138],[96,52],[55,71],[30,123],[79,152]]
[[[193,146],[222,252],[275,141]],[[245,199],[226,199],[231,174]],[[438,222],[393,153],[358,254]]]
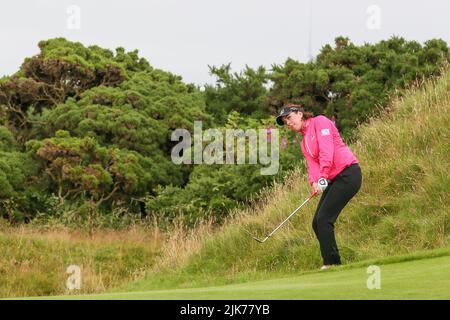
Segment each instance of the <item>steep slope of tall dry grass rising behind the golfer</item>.
[[[350,146],[360,160],[363,186],[339,217],[336,232],[344,263],[448,246],[450,239],[448,150],[450,73],[395,98],[390,112],[360,127]],[[271,240],[263,235],[309,195],[297,171],[253,209],[217,233],[183,243],[144,281],[120,290],[189,288],[298,274],[321,265],[311,219],[318,199]]]

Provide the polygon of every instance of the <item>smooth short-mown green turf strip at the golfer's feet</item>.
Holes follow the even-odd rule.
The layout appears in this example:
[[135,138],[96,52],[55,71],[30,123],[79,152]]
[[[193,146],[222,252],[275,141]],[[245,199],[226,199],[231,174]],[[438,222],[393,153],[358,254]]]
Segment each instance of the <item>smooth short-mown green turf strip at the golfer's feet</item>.
[[367,267],[329,270],[235,285],[51,299],[449,299],[450,256],[380,265],[381,288],[368,289]]

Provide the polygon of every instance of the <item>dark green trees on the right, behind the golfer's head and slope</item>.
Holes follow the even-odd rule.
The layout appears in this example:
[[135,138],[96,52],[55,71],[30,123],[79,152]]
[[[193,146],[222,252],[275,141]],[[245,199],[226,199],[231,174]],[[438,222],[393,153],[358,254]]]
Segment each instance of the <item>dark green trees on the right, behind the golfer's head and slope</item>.
[[325,45],[314,62],[289,58],[284,65],[274,65],[268,101],[277,110],[286,103],[301,103],[316,114],[335,116],[344,137],[350,137],[358,123],[386,105],[394,89],[438,74],[449,60],[448,46],[440,39],[422,46],[394,36],[356,46],[337,37],[334,47]]

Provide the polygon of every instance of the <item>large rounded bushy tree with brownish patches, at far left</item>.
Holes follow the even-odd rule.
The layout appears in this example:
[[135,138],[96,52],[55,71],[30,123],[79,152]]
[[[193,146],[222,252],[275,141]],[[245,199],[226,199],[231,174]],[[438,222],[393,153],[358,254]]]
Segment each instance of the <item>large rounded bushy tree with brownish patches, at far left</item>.
[[[192,168],[172,163],[171,132],[211,122],[194,85],[152,68],[136,50],[114,54],[62,38],[39,48],[0,79],[1,142],[33,163],[30,187],[59,207],[79,203],[92,213],[118,200],[136,210],[132,199],[156,186],[186,183]],[[20,183],[2,181],[11,198],[20,196]]]

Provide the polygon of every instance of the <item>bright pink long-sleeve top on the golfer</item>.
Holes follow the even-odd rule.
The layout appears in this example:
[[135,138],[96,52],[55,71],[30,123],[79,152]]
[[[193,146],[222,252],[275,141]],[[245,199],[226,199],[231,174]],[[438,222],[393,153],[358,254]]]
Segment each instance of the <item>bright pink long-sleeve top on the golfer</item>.
[[333,180],[342,170],[358,163],[358,159],[342,141],[339,131],[325,116],[305,121],[301,149],[306,158],[308,178],[312,185],[320,178]]

